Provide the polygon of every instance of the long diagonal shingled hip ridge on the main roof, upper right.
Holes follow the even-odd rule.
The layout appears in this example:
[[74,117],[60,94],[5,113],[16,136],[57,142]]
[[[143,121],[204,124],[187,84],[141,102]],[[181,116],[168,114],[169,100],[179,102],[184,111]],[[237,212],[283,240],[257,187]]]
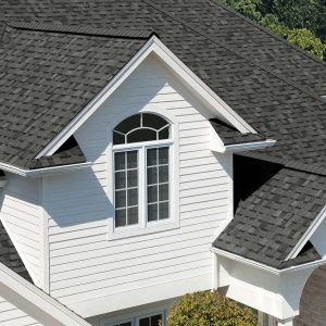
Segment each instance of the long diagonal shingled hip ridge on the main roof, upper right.
[[[217,45],[217,42],[215,41],[215,39],[211,38],[210,36],[206,36],[201,29],[192,26],[191,24],[185,22],[183,18],[176,17],[174,14],[171,14],[168,12],[166,12],[164,9],[160,8],[158,4],[153,3],[151,0],[141,0],[142,2],[147,3],[148,5],[151,5],[152,8],[156,9],[158,11],[160,11],[161,13],[170,16],[171,18],[177,21],[178,23],[185,25],[186,27],[190,28],[192,32],[197,33],[198,35],[204,37],[205,39],[210,40],[211,42],[213,42],[214,45]],[[302,86],[298,85],[297,83],[293,83],[291,80],[288,80],[287,78],[283,77],[281,75],[276,74],[275,72],[273,72],[272,70],[267,70],[266,67],[262,66],[261,64],[251,61],[249,58],[238,53],[237,50],[233,49],[231,47],[227,46],[224,41],[218,40],[218,46],[222,46],[223,48],[225,48],[226,50],[228,50],[229,52],[242,58],[243,60],[246,60],[247,62],[250,62],[251,64],[253,64],[254,66],[259,67],[260,70],[273,75],[274,77],[283,80],[284,83],[297,88],[298,90],[304,92],[305,95],[314,98],[315,100],[317,100],[318,102],[325,104],[325,101],[315,92],[309,91],[305,88],[303,88]]]

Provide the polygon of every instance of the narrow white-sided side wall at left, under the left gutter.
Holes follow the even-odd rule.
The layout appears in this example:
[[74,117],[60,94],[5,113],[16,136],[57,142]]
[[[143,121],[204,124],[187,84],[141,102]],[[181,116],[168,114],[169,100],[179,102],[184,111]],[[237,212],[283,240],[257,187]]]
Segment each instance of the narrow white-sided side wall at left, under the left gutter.
[[39,181],[8,173],[1,192],[1,221],[37,286],[41,285]]

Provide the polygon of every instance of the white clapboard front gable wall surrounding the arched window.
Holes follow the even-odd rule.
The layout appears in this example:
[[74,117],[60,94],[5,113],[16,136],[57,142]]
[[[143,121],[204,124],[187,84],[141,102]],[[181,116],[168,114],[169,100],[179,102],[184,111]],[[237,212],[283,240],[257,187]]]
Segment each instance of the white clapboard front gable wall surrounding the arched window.
[[[110,135],[140,111],[165,115],[177,130],[179,227],[110,240]],[[233,214],[233,193],[231,156],[209,149],[210,117],[166,70],[147,59],[82,126],[75,137],[95,162],[92,170],[43,179],[51,296],[87,317],[211,288],[209,248]]]

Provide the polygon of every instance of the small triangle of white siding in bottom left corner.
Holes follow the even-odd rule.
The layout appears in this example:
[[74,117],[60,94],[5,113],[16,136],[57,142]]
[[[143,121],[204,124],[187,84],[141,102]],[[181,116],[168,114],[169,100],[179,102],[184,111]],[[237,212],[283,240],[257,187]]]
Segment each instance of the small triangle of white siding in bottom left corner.
[[14,303],[0,297],[0,325],[3,326],[32,326],[41,325]]

